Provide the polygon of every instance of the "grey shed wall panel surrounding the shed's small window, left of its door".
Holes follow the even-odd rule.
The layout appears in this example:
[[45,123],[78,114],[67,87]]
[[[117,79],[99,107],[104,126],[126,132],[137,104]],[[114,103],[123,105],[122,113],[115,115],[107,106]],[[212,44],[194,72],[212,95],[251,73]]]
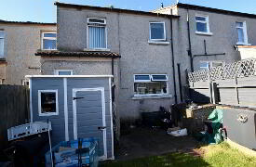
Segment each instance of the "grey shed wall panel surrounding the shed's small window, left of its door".
[[[38,90],[58,90],[59,115],[39,116],[38,111]],[[62,78],[32,78],[32,105],[33,121],[47,122],[52,125],[52,144],[56,145],[65,140],[64,121],[64,89]]]

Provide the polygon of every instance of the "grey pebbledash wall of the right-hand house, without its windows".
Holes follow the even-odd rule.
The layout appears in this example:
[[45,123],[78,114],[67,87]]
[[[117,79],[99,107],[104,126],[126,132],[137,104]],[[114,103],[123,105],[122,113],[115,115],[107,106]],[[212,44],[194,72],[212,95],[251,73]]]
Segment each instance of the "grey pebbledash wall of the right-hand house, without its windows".
[[[181,63],[182,85],[186,83],[185,71],[190,71],[190,58],[188,57],[187,50],[189,49],[188,32],[187,32],[187,11],[189,13],[191,47],[193,55],[204,55],[204,40],[206,40],[206,47],[208,54],[220,54],[219,56],[201,56],[194,58],[194,71],[200,70],[200,63],[205,61],[217,61],[224,63],[232,63],[241,59],[241,53],[237,51],[237,32],[236,21],[246,21],[248,43],[249,45],[256,45],[256,33],[254,27],[256,25],[256,15],[225,11],[215,8],[204,6],[192,6],[185,4],[178,4],[168,6],[155,10],[156,13],[165,13],[179,15],[178,20],[178,42],[179,49],[175,55],[175,64]],[[195,16],[208,16],[209,17],[209,32],[212,34],[198,34],[196,31]]]

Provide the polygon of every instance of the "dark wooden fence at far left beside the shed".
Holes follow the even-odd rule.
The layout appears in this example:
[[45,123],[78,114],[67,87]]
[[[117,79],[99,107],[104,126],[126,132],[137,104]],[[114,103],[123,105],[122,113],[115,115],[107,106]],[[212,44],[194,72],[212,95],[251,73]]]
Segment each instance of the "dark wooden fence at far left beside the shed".
[[0,85],[0,149],[7,145],[7,129],[29,121],[29,88]]

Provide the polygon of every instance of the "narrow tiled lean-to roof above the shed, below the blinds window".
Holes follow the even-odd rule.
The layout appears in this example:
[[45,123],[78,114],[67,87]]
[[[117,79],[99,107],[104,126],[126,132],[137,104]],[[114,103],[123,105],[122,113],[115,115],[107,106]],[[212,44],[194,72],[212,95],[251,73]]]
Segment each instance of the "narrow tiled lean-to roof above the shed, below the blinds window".
[[88,58],[121,58],[115,52],[85,51],[85,52],[63,52],[63,51],[38,51],[34,54],[41,57],[88,57]]

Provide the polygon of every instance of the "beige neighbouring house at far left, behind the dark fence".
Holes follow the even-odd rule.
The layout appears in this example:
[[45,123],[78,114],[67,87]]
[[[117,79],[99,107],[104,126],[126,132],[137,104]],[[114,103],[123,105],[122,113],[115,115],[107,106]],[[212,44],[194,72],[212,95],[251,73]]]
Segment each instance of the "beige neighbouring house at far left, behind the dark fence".
[[25,75],[40,74],[36,50],[55,44],[55,23],[0,20],[0,83],[27,84]]

